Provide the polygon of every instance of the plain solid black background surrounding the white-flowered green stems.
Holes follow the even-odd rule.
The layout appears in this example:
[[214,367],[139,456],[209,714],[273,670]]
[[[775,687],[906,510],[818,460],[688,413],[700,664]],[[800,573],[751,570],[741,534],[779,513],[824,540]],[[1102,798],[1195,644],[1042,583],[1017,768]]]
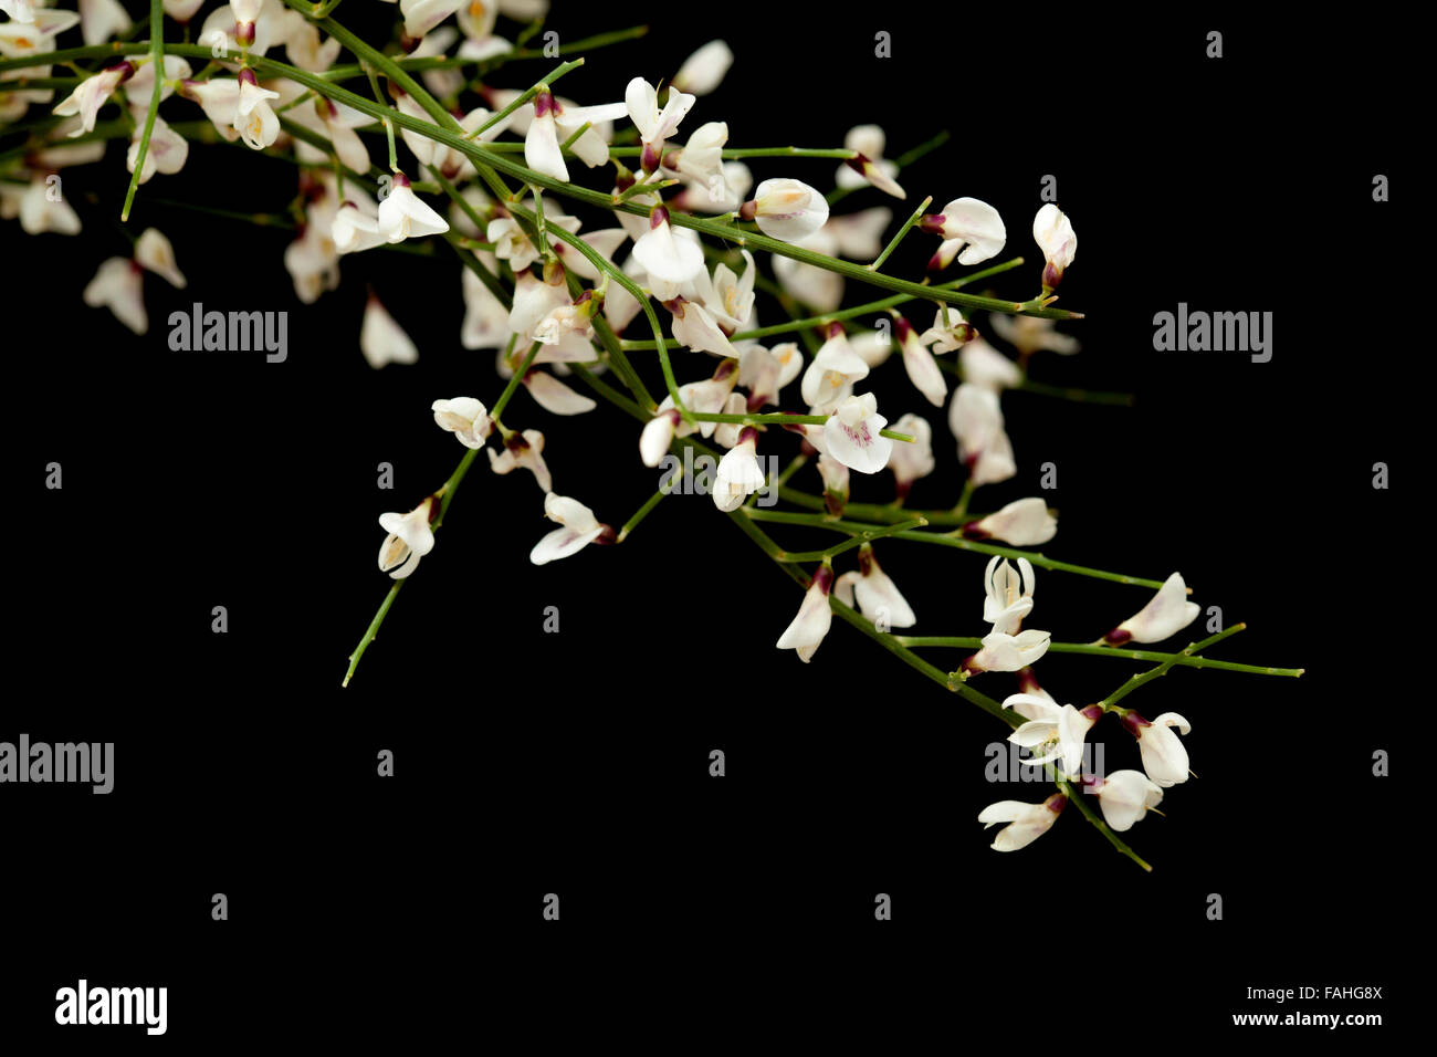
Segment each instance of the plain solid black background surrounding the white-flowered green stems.
[[[388,12],[369,7],[338,17],[375,29]],[[1229,1014],[1277,1008],[1246,1001],[1247,987],[1303,984],[1382,985],[1381,1002],[1336,1011],[1391,1025],[1426,837],[1403,818],[1401,775],[1417,764],[1397,733],[1414,736],[1403,710],[1424,708],[1411,656],[1424,624],[1408,613],[1426,523],[1410,499],[1423,273],[1404,239],[1417,198],[1403,178],[1398,32],[1175,9],[1119,20],[825,4],[627,16],[560,3],[550,24],[578,39],[641,20],[642,42],[593,52],[560,93],[622,98],[628,78],[668,76],[723,36],[739,60],[685,125],[727,119],[730,145],[829,147],[874,121],[890,157],[948,128],[902,174],[910,203],[993,203],[1009,229],[999,260],[1040,260],[1029,219],[1056,175],[1082,240],[1059,303],[1088,318],[1063,325],[1082,354],[1040,354],[1033,377],[1140,397],[1006,394],[1019,476],[974,505],[1039,493],[1039,466],[1055,462],[1062,529],[1046,554],[1181,569],[1194,600],[1249,624],[1217,656],[1306,676],[1177,670],[1128,702],[1193,722],[1198,778],[1127,834],[1152,874],[1075,810],[1000,856],[979,810],[1043,788],[983,779],[984,748],[1006,731],[838,621],[810,666],[775,650],[800,592],[707,499],[670,498],[622,546],[536,568],[527,551],[552,528],[542,496],[481,457],[341,689],[389,582],[374,564],[378,513],[412,506],[463,454],[430,403],[500,391],[491,354],[458,344],[460,266],[443,244],[433,259],[346,257],[341,288],[305,308],[280,263],[292,233],[148,201],[280,213],[296,170],[195,147],[181,175],[141,188],[131,219],[171,236],[190,279],[172,290],[147,276],[151,332],[137,339],[80,302],[101,259],[128,253],[112,145],[102,165],[65,173],[80,239],[0,229],[14,496],[0,738],[116,743],[108,797],[4,787],[3,1030],[52,1028],[55,989],[82,975],[167,985],[175,1044],[484,1037],[502,1022],[536,1044],[572,1025],[637,1041],[680,1014],[677,1041],[780,1007],[795,1038],[871,1018],[891,1041],[987,1028],[1071,1044],[1140,1024],[1232,1031]],[[1220,60],[1204,58],[1210,29],[1224,33]],[[878,30],[891,59],[874,56]],[[493,82],[522,88],[550,65]],[[197,116],[182,101],[164,112]],[[750,168],[826,187],[833,163]],[[1391,203],[1371,198],[1377,173]],[[869,190],[838,211],[874,204],[902,210]],[[921,275],[933,246],[911,234],[885,270]],[[1038,272],[993,289],[1027,298]],[[364,362],[366,283],[418,342],[417,367]],[[848,289],[848,303],[878,296]],[[164,321],[194,299],[289,311],[287,362],[171,352]],[[1180,301],[1273,311],[1272,362],[1154,352],[1152,314]],[[780,318],[772,302],[760,312]],[[680,381],[711,365],[678,354]],[[661,391],[657,367],[641,370]],[[897,361],[875,383],[890,418],[934,424],[940,469],[910,505],[951,505],[946,408],[925,410]],[[555,489],[604,521],[622,523],[655,486],[637,423],[606,404],[556,420],[519,393],[504,418],[546,431]],[[763,450],[793,450],[769,436]],[[43,488],[50,460],[60,492]],[[1387,492],[1371,488],[1380,460]],[[394,492],[375,488],[379,462]],[[816,475],[796,483],[813,489]],[[855,480],[854,499],[885,502],[890,488],[887,475]],[[831,542],[772,528],[793,548]],[[984,559],[937,549],[878,552],[917,633],[981,633]],[[1040,569],[1029,623],[1088,641],[1147,597]],[[228,634],[210,631],[213,605],[228,608]],[[546,605],[558,636],[542,630]],[[1075,703],[1131,670],[1039,666]],[[977,685],[1016,689],[1004,674]],[[1108,767],[1137,767],[1111,722],[1094,732]],[[708,775],[713,748],[724,778]],[[1378,748],[1397,778],[1371,777]],[[375,774],[381,749],[392,779]],[[216,892],[228,922],[210,919]],[[547,892],[559,923],[540,919]],[[879,892],[891,922],[874,920]],[[1206,918],[1209,893],[1221,922]],[[128,1040],[98,1034],[79,1033]]]

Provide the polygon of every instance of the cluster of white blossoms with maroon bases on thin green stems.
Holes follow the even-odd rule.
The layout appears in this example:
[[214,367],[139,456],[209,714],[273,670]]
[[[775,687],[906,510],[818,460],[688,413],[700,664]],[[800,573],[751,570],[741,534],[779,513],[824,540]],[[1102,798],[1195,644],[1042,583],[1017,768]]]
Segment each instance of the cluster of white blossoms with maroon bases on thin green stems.
[[[474,395],[433,401],[434,423],[464,454],[450,479],[414,509],[379,516],[382,572],[402,581],[433,552],[454,489],[480,450],[493,473],[525,470],[543,495],[543,516],[556,528],[533,544],[535,565],[572,558],[589,544],[624,541],[667,490],[615,532],[578,498],[555,490],[545,431],[504,421],[589,414],[599,397],[639,420],[615,446],[629,452],[635,472],[657,469],[680,450],[698,453],[713,463],[700,490],[720,512],[740,521],[787,568],[816,562],[810,575],[798,574],[806,591],[777,649],[812,662],[833,614],[842,613],[888,636],[890,649],[910,653],[891,630],[914,627],[918,617],[879,565],[875,541],[888,548],[895,542],[885,536],[920,535],[974,549],[990,557],[983,574],[986,628],[964,640],[976,649],[948,676],[947,689],[964,689],[986,673],[1017,673],[1022,692],[1003,702],[1006,715],[1025,720],[1012,741],[1029,752],[1030,765],[1059,769],[1065,790],[1078,781],[1095,795],[1114,831],[1158,804],[1161,790],[1186,781],[1187,754],[1174,732],[1188,731],[1181,716],[1148,720],[1109,700],[1058,705],[1038,686],[1033,666],[1062,644],[1046,630],[1025,627],[1033,617],[1036,568],[1046,559],[1013,548],[1055,538],[1058,522],[1046,502],[1027,496],[969,513],[976,489],[1019,472],[1006,394],[1032,387],[1027,372],[1040,351],[1071,355],[1079,348],[1055,326],[1081,318],[1052,308],[1078,246],[1072,220],[1056,204],[1045,204],[1032,221],[1043,255],[1039,295],[1026,302],[987,299],[960,288],[1022,260],[951,280],[946,273],[954,265],[981,266],[1004,250],[1007,227],[993,206],[954,197],[941,211],[912,213],[885,243],[895,219],[888,198],[907,200],[904,184],[914,180],[887,157],[884,129],[858,125],[833,150],[730,147],[741,115],[708,112],[706,98],[736,60],[721,40],[698,49],[667,82],[651,76],[668,69],[627,69],[622,99],[579,93],[578,102],[556,88],[578,62],[562,63],[539,82],[516,78],[525,88],[500,86],[509,62],[533,56],[502,35],[500,19],[530,24],[527,40],[537,27],[532,23],[547,13],[546,0],[398,0],[388,49],[342,32],[326,17],[332,4],[231,0],[191,26],[201,6],[164,1],[165,17],[185,26],[185,40],[210,49],[211,60],[195,69],[167,52],[167,26],[149,27],[152,43],[131,45],[129,17],[115,0],[82,0],[78,13],[37,0],[0,0],[0,135],[10,135],[9,125],[32,106],[43,108],[42,119],[13,129],[24,134],[17,147],[0,147],[0,219],[19,220],[29,234],[80,233],[82,219],[65,198],[59,174],[102,164],[112,138],[128,141],[128,216],[137,187],[182,173],[191,145],[185,135],[195,139],[198,127],[205,139],[297,163],[297,194],[279,220],[295,230],[283,265],[303,305],[341,285],[349,255],[382,253],[408,240],[447,243],[458,259],[451,275],[460,285],[451,296],[464,306],[451,339],[493,352],[506,384],[490,406]],[[63,66],[50,62],[56,37],[72,30],[85,47],[66,47],[70,62]],[[394,46],[405,58],[395,58]],[[341,65],[346,49],[355,62]],[[178,50],[204,58],[193,46]],[[471,65],[481,82],[466,72]],[[52,76],[56,70],[76,76]],[[368,95],[346,88],[364,81]],[[56,83],[62,88],[50,86]],[[118,121],[102,119],[109,108],[118,109]],[[185,109],[188,127],[175,119]],[[826,160],[826,187],[789,173],[805,157]],[[777,158],[779,171],[750,171],[747,163],[757,165],[759,158]],[[831,206],[854,191],[881,204],[835,214]],[[208,209],[243,219],[251,203],[243,187],[233,197]],[[592,213],[602,217],[596,224]],[[938,237],[923,283],[882,272],[910,232]],[[147,270],[185,283],[168,239],[152,227],[129,256],[103,260],[82,298],[145,334]],[[888,296],[844,309],[854,283],[882,288]],[[762,293],[783,303],[779,322],[760,321]],[[858,322],[865,318],[872,324]],[[376,290],[369,289],[356,322],[358,349],[371,368],[420,360],[420,344]],[[894,351],[905,381],[885,367]],[[660,400],[645,381],[655,368],[664,378]],[[579,383],[588,391],[576,388]],[[522,411],[513,403],[519,388],[527,393]],[[879,393],[887,413],[879,411]],[[918,512],[905,503],[940,465],[935,426],[924,417],[934,414],[930,408],[947,410],[966,483],[951,509]],[[635,441],[637,460],[628,447]],[[787,469],[776,475],[780,453]],[[858,489],[877,489],[885,502],[856,502]],[[760,528],[766,512],[756,500],[770,493],[796,496],[800,508],[767,512],[772,519],[836,531],[846,542],[815,554],[783,551]],[[934,521],[951,531],[918,532]],[[855,567],[836,571],[833,559],[851,551]],[[349,674],[387,613],[388,601],[352,656]],[[1183,578],[1173,574],[1152,601],[1091,649],[1157,643],[1196,614]],[[976,623],[976,598],[971,617]],[[777,616],[773,623],[777,631]],[[992,703],[990,710],[1000,709]],[[1086,735],[1106,712],[1137,738],[1142,772],[1082,775]],[[1023,847],[1052,825],[1066,797],[1000,801],[980,821],[1007,823],[994,847]]]

